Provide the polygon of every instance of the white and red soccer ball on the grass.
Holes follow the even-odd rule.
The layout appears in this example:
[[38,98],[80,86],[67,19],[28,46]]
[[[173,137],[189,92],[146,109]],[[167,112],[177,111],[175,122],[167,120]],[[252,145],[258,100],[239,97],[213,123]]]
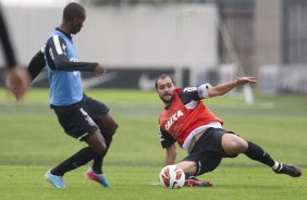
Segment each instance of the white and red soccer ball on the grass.
[[181,167],[168,165],[161,170],[159,180],[164,188],[179,189],[184,186],[185,174]]

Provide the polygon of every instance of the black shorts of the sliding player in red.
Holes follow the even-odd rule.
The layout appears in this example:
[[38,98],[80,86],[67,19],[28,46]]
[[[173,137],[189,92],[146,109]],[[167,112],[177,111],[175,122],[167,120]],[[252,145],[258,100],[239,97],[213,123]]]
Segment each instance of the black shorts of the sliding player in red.
[[196,141],[194,148],[183,161],[195,161],[199,168],[195,175],[211,172],[219,166],[223,158],[235,158],[228,155],[222,148],[222,136],[233,134],[220,128],[208,128],[205,134]]

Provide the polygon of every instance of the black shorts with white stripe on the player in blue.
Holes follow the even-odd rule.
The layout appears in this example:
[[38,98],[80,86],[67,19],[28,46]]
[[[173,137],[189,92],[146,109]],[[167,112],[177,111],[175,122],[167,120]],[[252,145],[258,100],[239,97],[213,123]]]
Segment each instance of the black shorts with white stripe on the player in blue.
[[83,141],[99,127],[97,122],[106,116],[109,108],[87,96],[78,103],[69,107],[51,107],[64,132]]

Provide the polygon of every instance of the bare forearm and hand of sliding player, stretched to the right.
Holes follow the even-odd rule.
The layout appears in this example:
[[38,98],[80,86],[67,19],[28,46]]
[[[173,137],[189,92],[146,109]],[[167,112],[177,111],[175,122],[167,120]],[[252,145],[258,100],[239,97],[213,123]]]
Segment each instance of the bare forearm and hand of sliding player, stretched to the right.
[[242,86],[244,84],[255,84],[257,79],[255,77],[237,77],[234,82],[220,84],[218,86],[208,88],[209,97],[222,96],[232,90],[237,86]]

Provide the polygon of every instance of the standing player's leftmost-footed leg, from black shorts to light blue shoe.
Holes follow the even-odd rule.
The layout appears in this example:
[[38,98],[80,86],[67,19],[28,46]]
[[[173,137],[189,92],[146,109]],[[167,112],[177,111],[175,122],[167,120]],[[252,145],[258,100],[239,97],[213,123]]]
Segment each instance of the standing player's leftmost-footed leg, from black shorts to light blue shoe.
[[81,141],[86,141],[89,147],[76,152],[71,158],[60,163],[45,174],[57,188],[64,188],[63,175],[106,152],[106,142],[98,126],[90,116],[79,107],[54,109],[60,124],[65,133]]

